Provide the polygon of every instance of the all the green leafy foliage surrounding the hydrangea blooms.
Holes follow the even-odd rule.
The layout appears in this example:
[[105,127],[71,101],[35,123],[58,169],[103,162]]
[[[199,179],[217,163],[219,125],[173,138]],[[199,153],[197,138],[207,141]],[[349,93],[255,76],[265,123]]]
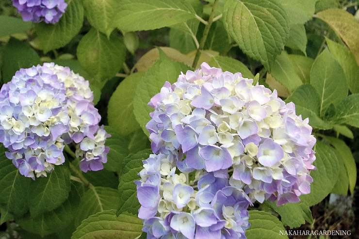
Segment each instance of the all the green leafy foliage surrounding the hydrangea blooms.
[[[64,16],[48,25],[23,22],[11,1],[1,0],[1,84],[43,62],[80,73],[112,135],[109,160],[104,170],[82,174],[69,154],[71,164],[32,181],[18,174],[1,147],[2,235],[139,236],[132,182],[150,154],[147,102],[166,80],[173,83],[180,71],[202,62],[276,88],[298,115],[310,118],[317,138],[311,193],[296,204],[255,205],[247,238],[281,238],[283,226],[358,235],[358,0],[66,2]],[[349,195],[353,204],[333,208],[330,193]]]

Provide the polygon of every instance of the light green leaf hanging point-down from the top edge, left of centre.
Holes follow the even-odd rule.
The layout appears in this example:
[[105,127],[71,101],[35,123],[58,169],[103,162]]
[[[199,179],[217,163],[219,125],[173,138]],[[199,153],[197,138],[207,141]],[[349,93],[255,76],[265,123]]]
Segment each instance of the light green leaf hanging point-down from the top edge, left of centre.
[[121,5],[118,0],[86,0],[83,1],[84,15],[91,26],[105,33],[107,37],[115,29],[114,20]]

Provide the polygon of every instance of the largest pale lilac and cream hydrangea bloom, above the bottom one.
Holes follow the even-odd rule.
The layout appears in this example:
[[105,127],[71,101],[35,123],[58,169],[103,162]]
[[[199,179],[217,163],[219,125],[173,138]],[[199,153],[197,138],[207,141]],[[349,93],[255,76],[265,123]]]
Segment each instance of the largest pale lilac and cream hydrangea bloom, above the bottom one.
[[155,154],[171,155],[180,172],[203,170],[243,189],[254,202],[298,202],[315,169],[309,119],[263,85],[203,63],[166,82],[148,105]]

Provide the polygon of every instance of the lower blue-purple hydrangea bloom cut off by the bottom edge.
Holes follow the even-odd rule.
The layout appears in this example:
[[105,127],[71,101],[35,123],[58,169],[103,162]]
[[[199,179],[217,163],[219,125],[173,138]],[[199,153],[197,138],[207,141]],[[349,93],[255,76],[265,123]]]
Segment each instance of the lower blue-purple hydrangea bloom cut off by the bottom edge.
[[153,154],[135,181],[147,238],[245,239],[251,204],[245,192],[203,170],[176,170],[172,154]]

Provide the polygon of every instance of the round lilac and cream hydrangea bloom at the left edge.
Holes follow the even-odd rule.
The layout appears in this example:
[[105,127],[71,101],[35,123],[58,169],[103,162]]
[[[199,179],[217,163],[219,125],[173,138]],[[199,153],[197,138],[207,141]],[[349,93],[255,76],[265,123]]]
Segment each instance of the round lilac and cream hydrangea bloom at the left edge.
[[89,82],[68,67],[45,63],[20,69],[0,90],[0,142],[20,174],[46,176],[65,162],[75,142],[82,171],[103,169],[107,134],[92,102]]

